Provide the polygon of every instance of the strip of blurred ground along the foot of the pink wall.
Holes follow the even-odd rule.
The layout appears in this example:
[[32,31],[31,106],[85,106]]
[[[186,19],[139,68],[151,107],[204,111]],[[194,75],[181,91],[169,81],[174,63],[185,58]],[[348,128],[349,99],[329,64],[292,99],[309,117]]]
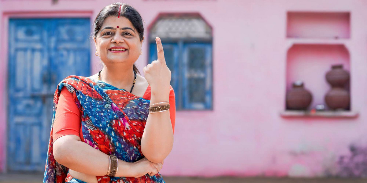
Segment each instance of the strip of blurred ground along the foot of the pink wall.
[[[367,183],[367,179],[295,178],[196,178],[163,176],[166,183]],[[0,174],[0,183],[40,183],[43,174]]]

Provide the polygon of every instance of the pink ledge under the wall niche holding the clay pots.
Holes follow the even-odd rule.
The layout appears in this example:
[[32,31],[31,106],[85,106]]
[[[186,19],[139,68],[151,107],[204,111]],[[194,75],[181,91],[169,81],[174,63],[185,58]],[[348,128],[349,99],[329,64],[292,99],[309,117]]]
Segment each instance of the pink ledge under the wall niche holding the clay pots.
[[281,111],[282,117],[337,117],[337,118],[355,118],[358,116],[356,111]]

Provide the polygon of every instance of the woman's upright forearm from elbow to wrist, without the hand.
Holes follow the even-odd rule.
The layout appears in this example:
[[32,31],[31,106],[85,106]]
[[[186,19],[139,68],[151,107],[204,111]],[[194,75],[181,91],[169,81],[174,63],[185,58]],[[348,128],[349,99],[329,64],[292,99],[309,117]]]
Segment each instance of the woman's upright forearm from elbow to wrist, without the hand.
[[[150,104],[169,100],[168,90],[153,91]],[[141,139],[143,155],[153,163],[163,161],[172,150],[173,130],[170,111],[149,113]]]

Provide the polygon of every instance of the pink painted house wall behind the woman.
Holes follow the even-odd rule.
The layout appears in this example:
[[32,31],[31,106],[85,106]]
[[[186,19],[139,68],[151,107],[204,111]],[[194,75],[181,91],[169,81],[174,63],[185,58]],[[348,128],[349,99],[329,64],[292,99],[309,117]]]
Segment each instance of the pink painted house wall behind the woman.
[[[52,16],[52,12],[92,12],[95,17],[105,0],[0,0],[0,164],[4,168],[6,135],[7,21],[9,16]],[[113,1],[109,1],[112,3]],[[199,12],[213,28],[213,111],[179,111],[175,141],[163,175],[177,176],[326,176],[338,174],[335,162],[349,155],[353,143],[367,145],[367,2],[361,0],[129,0],[145,20],[145,27],[161,12]],[[350,12],[350,38],[317,40],[287,38],[287,12]],[[47,13],[43,13],[47,12]],[[54,15],[53,15],[54,16]],[[92,19],[93,20],[93,19]],[[340,23],[340,22],[339,22]],[[338,22],[331,25],[340,25]],[[342,21],[341,24],[345,23]],[[307,25],[309,26],[309,25]],[[314,25],[310,25],[313,27]],[[327,28],[327,27],[326,27]],[[288,27],[288,29],[290,29]],[[322,29],[324,30],[324,29]],[[297,31],[296,31],[297,32]],[[347,34],[345,31],[335,31]],[[147,31],[145,34],[147,35]],[[312,34],[306,34],[311,35]],[[289,37],[289,36],[288,36]],[[292,37],[292,36],[290,36]],[[325,36],[323,36],[325,37]],[[341,56],[351,72],[351,106],[359,116],[345,118],[285,118],[285,93],[290,80],[301,73],[301,49],[320,62],[317,72],[328,69]],[[323,43],[340,46],[304,46]],[[291,48],[291,49],[290,49]],[[318,52],[317,49],[323,51]],[[292,51],[295,49],[295,51]],[[91,48],[92,72],[99,68]],[[148,44],[137,61],[147,64]],[[331,57],[320,59],[323,55]],[[339,55],[338,55],[339,54]],[[301,62],[299,62],[301,60]],[[330,61],[331,60],[331,61]],[[287,65],[287,63],[289,65]],[[311,63],[309,63],[311,64]],[[290,75],[287,76],[287,71]],[[297,72],[297,71],[300,71]],[[306,87],[322,96],[323,74],[309,75]],[[309,84],[310,81],[315,85]],[[315,86],[321,86],[320,90]],[[315,88],[313,88],[315,87]],[[321,102],[318,98],[317,101]],[[338,168],[338,167],[336,167]],[[339,174],[338,174],[339,175]]]

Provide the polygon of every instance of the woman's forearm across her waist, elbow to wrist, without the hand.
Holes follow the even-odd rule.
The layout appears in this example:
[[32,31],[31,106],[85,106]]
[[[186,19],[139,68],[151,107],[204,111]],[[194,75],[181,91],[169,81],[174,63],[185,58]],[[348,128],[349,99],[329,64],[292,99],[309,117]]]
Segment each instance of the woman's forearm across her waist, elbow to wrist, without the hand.
[[[54,142],[55,160],[74,171],[88,175],[104,176],[109,168],[107,154],[81,142],[76,135],[65,135]],[[119,169],[115,176],[132,176],[131,164],[119,160]]]

